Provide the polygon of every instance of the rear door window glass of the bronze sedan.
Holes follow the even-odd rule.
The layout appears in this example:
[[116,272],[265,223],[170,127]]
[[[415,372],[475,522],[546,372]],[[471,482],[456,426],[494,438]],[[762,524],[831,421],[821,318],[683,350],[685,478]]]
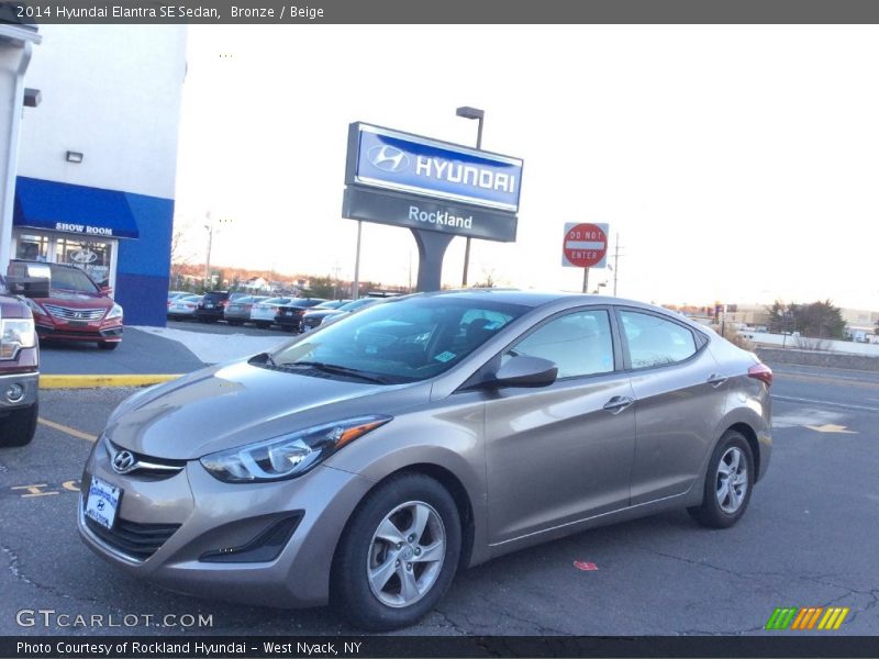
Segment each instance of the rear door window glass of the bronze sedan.
[[692,332],[659,316],[621,311],[632,368],[649,368],[683,361],[696,354]]

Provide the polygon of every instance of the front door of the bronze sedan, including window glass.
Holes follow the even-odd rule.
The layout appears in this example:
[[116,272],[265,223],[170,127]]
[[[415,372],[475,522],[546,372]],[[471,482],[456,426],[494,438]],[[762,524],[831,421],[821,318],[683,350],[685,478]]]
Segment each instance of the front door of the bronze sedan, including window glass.
[[492,544],[628,504],[635,416],[613,335],[610,308],[585,308],[545,321],[502,356],[543,357],[559,371],[549,387],[487,396]]

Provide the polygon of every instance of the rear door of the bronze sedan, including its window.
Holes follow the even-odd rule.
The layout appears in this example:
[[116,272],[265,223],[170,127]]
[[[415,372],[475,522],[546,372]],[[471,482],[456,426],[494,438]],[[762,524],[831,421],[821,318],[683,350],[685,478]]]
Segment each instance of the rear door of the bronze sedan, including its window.
[[699,476],[726,406],[727,386],[708,339],[685,323],[617,309],[637,442],[632,504],[686,492]]

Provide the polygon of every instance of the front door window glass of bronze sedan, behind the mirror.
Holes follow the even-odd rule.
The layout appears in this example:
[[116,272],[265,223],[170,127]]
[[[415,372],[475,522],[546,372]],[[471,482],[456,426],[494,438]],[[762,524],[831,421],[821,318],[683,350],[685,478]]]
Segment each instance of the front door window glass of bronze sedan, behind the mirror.
[[608,312],[580,311],[555,319],[510,348],[503,360],[514,355],[554,361],[559,378],[611,372],[613,339]]

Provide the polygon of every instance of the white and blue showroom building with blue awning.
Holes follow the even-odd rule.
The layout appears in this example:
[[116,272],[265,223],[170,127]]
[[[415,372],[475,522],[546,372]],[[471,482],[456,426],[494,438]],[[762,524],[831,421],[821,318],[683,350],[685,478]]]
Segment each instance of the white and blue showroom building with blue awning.
[[78,266],[164,325],[186,26],[41,25],[25,76],[12,258]]

